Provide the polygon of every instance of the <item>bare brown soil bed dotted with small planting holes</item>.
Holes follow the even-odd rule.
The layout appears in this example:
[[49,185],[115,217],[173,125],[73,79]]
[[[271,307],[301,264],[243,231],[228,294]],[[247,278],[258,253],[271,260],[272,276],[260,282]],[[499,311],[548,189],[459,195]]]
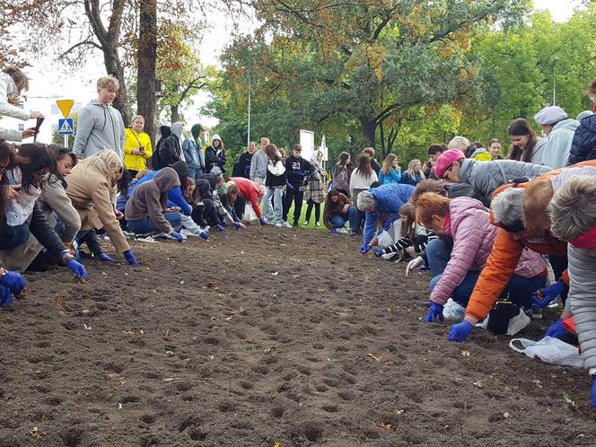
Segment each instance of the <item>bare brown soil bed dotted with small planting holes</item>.
[[0,446],[596,444],[586,372],[450,343],[420,320],[430,274],[359,242],[250,225],[134,242],[141,266],[90,259],[84,284],[27,274],[0,311]]

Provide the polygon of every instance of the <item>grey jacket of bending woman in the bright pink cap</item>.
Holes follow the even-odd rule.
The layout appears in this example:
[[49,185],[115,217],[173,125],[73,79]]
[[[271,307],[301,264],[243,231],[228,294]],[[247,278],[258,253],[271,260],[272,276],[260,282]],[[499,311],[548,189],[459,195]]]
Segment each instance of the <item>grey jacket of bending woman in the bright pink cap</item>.
[[531,179],[548,171],[551,170],[547,166],[514,160],[477,162],[467,158],[461,162],[460,183],[471,185],[482,203],[489,206],[496,188],[516,178],[528,177]]

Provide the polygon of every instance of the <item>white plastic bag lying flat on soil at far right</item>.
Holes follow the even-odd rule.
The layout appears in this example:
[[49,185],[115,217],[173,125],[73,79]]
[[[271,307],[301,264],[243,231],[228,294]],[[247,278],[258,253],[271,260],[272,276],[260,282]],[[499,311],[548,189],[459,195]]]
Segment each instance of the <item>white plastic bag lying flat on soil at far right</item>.
[[[522,344],[523,348],[514,346],[515,342]],[[558,338],[544,337],[539,341],[528,338],[513,338],[509,347],[518,353],[528,355],[530,358],[539,358],[547,364],[558,364],[583,369],[583,359],[577,347],[569,345]]]

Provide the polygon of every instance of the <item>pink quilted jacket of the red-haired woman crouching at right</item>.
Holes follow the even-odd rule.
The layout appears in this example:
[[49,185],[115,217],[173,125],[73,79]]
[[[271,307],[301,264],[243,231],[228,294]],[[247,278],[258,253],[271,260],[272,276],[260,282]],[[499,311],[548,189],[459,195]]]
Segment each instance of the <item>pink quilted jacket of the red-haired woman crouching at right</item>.
[[[434,286],[431,301],[444,304],[470,270],[481,270],[495,243],[497,227],[490,223],[486,208],[474,198],[458,197],[449,205],[451,223],[445,229],[453,238],[451,259],[443,276]],[[515,274],[538,276],[547,268],[545,260],[531,250],[523,250]]]

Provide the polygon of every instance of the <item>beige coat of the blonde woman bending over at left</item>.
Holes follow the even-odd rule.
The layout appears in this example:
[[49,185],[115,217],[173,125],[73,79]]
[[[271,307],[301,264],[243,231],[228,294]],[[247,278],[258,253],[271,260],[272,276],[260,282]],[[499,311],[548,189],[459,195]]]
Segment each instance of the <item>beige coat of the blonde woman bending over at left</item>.
[[116,193],[106,174],[95,169],[82,170],[81,165],[77,164],[68,177],[66,194],[81,216],[81,230],[103,227],[118,253],[130,250],[116,219]]

